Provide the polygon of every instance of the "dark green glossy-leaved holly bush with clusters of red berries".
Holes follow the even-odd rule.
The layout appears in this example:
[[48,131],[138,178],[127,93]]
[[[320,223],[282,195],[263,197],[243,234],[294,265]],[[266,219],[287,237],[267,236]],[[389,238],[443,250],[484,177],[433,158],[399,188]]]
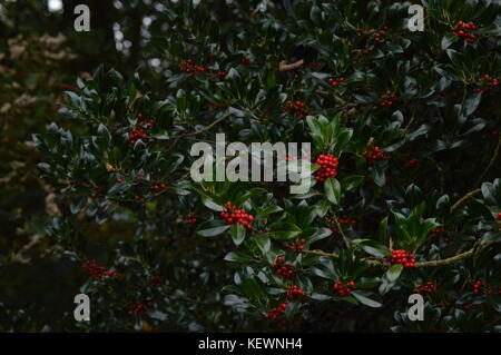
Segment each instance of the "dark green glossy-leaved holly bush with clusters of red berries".
[[[49,327],[500,331],[500,6],[412,3],[177,1],[155,80],[78,79],[33,140],[91,322]],[[312,187],[194,181],[216,134],[311,142]]]

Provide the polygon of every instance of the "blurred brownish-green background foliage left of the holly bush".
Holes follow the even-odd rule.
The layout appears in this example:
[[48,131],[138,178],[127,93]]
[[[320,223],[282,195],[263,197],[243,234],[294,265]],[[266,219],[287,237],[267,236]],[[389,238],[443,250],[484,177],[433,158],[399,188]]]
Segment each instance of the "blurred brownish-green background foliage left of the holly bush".
[[[146,77],[156,78],[148,59],[155,50],[150,37],[161,31],[160,21],[151,21],[164,9],[161,2],[0,3],[0,303],[26,309],[38,324],[53,323],[72,308],[84,275],[52,255],[53,244],[42,237],[47,216],[60,211],[55,194],[38,179],[40,157],[31,135],[60,120],[62,92],[76,88],[77,77],[89,78],[101,62],[126,75],[143,68]],[[90,32],[73,30],[73,9],[80,3],[92,9]],[[91,238],[114,233],[110,229],[96,230]],[[8,317],[19,317],[22,331],[30,331],[23,314]]]

